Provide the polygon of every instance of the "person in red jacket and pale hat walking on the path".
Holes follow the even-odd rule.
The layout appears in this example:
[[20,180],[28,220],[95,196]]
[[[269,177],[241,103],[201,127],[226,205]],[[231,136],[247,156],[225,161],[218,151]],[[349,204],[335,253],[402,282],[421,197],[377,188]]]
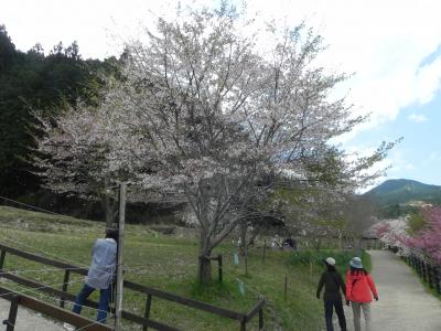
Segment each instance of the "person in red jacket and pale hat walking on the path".
[[355,331],[361,331],[361,310],[365,317],[366,331],[370,331],[370,302],[373,296],[378,301],[377,289],[372,276],[363,268],[359,257],[349,261],[351,269],[346,273],[346,305],[352,306]]

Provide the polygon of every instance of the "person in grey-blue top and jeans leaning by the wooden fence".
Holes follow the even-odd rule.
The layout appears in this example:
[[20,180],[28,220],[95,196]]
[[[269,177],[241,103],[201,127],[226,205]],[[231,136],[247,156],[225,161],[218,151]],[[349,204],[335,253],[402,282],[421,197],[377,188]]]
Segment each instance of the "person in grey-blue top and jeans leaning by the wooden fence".
[[106,323],[116,276],[118,231],[107,229],[106,237],[95,242],[92,263],[83,289],[75,298],[73,312],[80,313],[84,301],[99,289],[97,321]]

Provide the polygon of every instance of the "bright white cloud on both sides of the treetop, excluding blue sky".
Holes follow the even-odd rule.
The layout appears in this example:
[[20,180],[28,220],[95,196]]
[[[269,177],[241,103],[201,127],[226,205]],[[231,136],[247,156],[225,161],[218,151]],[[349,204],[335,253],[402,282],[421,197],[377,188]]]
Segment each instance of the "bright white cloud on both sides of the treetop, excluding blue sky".
[[[2,22],[21,50],[41,42],[47,51],[58,41],[78,41],[85,57],[118,54],[109,35],[123,40],[151,23],[152,14],[171,14],[178,1],[153,0],[15,0],[2,1]],[[182,6],[218,3],[183,0]],[[233,1],[240,7],[241,1]],[[372,113],[362,128],[394,120],[400,109],[430,102],[440,89],[441,56],[421,66],[441,44],[438,0],[248,0],[250,14],[295,25],[302,20],[324,36],[320,56],[327,67],[356,75],[342,85],[356,114]],[[358,129],[359,130],[359,129]],[[357,131],[347,135],[349,140]],[[342,141],[343,141],[342,140]]]

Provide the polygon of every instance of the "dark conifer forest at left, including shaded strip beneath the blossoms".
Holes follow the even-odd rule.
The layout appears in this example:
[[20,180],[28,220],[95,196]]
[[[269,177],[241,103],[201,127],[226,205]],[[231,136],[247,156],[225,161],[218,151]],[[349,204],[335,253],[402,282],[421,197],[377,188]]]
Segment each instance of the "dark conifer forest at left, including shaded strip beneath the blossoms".
[[[35,44],[28,52],[15,49],[0,24],[0,196],[72,216],[103,220],[97,201],[55,194],[41,188],[33,162],[35,138],[41,135],[33,111],[53,118],[80,100],[98,105],[106,76],[119,77],[123,58],[84,60],[76,42],[62,43],[50,52]],[[0,204],[8,203],[0,199]],[[12,204],[18,206],[17,204]],[[22,207],[22,205],[20,205]],[[173,218],[174,209],[160,204],[129,204],[131,222]]]

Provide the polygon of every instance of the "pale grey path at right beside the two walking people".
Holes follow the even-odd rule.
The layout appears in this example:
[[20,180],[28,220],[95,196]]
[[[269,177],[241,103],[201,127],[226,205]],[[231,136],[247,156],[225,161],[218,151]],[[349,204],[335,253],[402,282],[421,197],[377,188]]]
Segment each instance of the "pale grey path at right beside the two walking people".
[[[440,331],[441,301],[428,293],[411,269],[392,253],[369,254],[379,295],[379,301],[372,303],[373,331]],[[346,316],[348,330],[353,330],[352,312],[346,310]]]

